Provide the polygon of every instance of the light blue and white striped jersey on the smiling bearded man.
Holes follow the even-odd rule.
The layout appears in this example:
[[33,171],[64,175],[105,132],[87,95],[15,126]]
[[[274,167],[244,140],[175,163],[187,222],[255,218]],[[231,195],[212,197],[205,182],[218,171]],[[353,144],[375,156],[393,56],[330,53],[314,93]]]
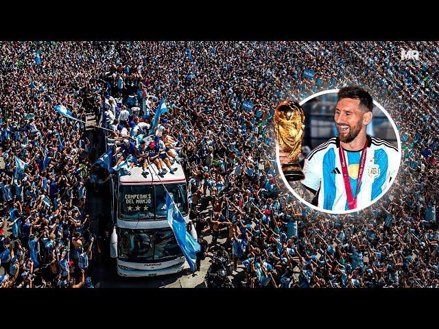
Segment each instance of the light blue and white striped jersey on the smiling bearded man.
[[[363,177],[358,190],[357,208],[366,208],[390,184],[399,168],[400,154],[394,145],[367,135],[368,147]],[[349,210],[342,175],[338,136],[319,145],[305,159],[302,184],[317,193],[318,208]],[[361,150],[344,150],[352,195],[355,198]]]

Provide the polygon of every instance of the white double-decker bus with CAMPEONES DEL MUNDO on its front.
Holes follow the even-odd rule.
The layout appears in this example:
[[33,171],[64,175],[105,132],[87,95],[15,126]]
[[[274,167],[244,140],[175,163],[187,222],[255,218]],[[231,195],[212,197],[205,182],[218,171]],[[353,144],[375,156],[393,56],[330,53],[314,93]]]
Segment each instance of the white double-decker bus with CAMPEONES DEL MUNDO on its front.
[[159,178],[156,173],[155,164],[150,164],[150,173],[146,176],[141,167],[136,166],[131,169],[131,175],[118,173],[110,181],[115,224],[111,256],[117,258],[119,276],[161,276],[189,267],[167,223],[167,193],[163,187],[165,185],[171,193],[189,232],[196,239],[195,229],[189,223],[185,173],[180,164],[174,174],[168,171]]

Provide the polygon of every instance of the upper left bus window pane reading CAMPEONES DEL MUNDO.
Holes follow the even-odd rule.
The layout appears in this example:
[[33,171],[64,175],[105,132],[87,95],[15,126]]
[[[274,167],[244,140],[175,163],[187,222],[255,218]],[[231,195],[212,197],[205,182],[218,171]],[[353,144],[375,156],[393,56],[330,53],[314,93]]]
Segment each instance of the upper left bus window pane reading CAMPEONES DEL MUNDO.
[[119,186],[119,216],[132,220],[154,218],[154,186]]

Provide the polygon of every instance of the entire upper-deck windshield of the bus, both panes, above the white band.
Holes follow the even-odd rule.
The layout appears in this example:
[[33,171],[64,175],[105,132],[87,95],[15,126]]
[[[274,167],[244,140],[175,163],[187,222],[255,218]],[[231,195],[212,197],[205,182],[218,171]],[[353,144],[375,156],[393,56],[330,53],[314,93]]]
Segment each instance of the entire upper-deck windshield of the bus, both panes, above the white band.
[[[188,213],[186,184],[167,184],[167,191],[183,216]],[[154,220],[166,217],[166,191],[162,185],[120,185],[119,218]]]

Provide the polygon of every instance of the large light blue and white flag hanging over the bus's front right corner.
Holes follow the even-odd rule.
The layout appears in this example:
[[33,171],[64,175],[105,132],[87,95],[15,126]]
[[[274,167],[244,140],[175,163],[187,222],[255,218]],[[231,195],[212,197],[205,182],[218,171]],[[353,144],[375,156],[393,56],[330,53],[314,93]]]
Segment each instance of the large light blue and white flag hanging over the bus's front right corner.
[[195,271],[195,260],[197,259],[196,253],[200,252],[201,247],[198,241],[187,232],[185,219],[183,219],[169,193],[167,193],[166,196],[166,209],[167,223],[174,232],[178,246],[185,255],[191,270]]

